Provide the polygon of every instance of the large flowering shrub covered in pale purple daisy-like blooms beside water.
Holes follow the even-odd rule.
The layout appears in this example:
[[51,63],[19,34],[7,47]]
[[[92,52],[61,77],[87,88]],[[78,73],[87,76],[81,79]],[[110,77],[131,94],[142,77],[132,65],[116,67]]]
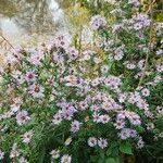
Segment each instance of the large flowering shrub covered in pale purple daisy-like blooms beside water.
[[2,162],[114,163],[147,146],[146,133],[160,136],[163,64],[152,64],[161,54],[150,43],[151,20],[135,13],[138,1],[120,7],[113,25],[91,18],[96,49],[59,37],[16,51],[18,67],[2,74]]

